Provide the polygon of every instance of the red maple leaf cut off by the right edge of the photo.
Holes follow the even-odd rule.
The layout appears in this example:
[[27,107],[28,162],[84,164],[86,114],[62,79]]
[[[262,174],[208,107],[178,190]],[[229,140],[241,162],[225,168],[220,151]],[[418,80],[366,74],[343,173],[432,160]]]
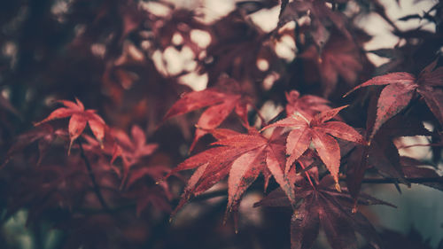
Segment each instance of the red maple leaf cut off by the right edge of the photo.
[[378,97],[377,117],[369,140],[386,121],[405,109],[416,93],[424,98],[431,112],[443,124],[443,89],[439,89],[443,87],[443,66],[436,66],[437,60],[426,66],[418,77],[404,72],[377,76],[346,93],[345,97],[355,89],[385,86]]

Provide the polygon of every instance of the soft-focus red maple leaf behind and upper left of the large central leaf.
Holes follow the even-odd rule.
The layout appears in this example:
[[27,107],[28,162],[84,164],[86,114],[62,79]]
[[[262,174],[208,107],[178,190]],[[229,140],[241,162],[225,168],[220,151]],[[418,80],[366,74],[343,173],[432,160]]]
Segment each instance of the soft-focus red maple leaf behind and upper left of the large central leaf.
[[184,94],[169,109],[163,121],[209,106],[198,119],[198,129],[190,145],[190,151],[192,151],[198,139],[206,135],[206,130],[217,128],[232,111],[237,113],[237,116],[247,124],[247,105],[250,105],[250,102],[242,97],[238,83],[221,77],[217,87]]

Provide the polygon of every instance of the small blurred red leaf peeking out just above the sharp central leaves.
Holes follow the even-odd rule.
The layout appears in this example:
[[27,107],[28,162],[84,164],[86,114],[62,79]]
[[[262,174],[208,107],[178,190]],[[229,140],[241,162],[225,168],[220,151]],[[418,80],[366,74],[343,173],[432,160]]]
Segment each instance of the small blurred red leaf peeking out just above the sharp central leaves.
[[327,105],[329,101],[323,97],[314,95],[304,95],[300,97],[297,90],[291,90],[285,93],[288,104],[286,105],[286,114],[289,116],[293,113],[301,113],[305,117],[314,116],[317,113],[330,110]]

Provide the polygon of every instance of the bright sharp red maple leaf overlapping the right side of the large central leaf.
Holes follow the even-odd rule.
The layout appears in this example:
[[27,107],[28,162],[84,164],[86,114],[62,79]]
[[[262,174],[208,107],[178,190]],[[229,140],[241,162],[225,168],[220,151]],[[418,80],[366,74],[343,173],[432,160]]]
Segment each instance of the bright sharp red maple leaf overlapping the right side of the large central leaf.
[[315,146],[320,159],[334,177],[337,188],[338,171],[340,167],[340,148],[337,140],[332,136],[364,144],[364,138],[354,128],[341,121],[330,121],[338,112],[346,108],[347,105],[335,109],[318,113],[315,117],[304,117],[301,114],[291,115],[284,120],[276,121],[263,128],[289,127],[294,128],[286,139],[286,153],[289,154],[286,160],[285,174],[291,168],[295,160],[307,151],[311,142]]

